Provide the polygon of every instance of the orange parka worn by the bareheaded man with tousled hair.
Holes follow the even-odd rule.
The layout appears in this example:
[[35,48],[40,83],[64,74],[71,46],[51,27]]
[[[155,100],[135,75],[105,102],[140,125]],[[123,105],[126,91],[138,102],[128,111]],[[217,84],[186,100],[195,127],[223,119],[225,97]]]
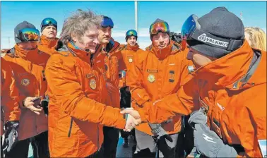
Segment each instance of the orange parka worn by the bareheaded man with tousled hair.
[[72,44],[59,48],[47,62],[49,84],[49,152],[51,157],[87,157],[100,149],[102,125],[123,129],[125,120],[105,102],[100,71],[90,53]]

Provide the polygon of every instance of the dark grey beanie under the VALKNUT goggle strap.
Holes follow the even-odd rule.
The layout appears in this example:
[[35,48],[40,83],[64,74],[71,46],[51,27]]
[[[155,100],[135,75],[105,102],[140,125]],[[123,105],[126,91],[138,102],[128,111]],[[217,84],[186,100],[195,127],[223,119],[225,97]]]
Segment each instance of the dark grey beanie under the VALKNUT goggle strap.
[[[216,37],[225,39],[244,39],[244,25],[234,13],[231,13],[225,7],[214,8],[210,13],[198,18],[201,30],[210,33]],[[190,47],[207,56],[216,59],[229,54],[232,51],[212,47],[197,40],[187,41]],[[238,49],[238,48],[236,48]]]

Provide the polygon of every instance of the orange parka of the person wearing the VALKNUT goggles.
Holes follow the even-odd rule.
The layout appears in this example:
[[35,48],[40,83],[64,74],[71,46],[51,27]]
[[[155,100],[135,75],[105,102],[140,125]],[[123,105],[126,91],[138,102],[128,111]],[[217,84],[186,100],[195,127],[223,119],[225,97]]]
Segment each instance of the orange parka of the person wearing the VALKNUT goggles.
[[160,123],[203,107],[210,130],[228,145],[244,147],[239,156],[263,157],[258,140],[266,140],[266,51],[253,50],[245,41],[193,75],[177,94],[137,109],[142,120]]

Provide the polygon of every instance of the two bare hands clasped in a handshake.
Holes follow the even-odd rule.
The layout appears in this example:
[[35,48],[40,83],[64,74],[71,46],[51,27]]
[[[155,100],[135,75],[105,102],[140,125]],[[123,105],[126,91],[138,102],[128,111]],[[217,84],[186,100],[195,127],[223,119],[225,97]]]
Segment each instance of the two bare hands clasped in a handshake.
[[133,108],[126,108],[121,111],[121,114],[124,114],[124,119],[126,119],[126,125],[124,128],[125,132],[131,132],[133,128],[141,123],[141,117],[138,111]]

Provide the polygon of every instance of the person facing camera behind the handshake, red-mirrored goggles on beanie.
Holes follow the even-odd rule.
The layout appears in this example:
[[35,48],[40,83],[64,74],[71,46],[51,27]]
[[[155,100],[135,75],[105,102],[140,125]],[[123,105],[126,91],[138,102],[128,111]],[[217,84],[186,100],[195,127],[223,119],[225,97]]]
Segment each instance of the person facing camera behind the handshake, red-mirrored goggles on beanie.
[[[150,102],[177,92],[193,66],[186,59],[188,49],[182,50],[180,44],[170,40],[170,28],[164,20],[157,19],[150,25],[150,39],[152,44],[146,51],[136,55],[136,68],[133,70],[136,74],[131,72],[132,69],[128,72],[129,78],[136,78],[136,82],[129,85],[134,109],[146,108]],[[175,116],[156,128],[141,123],[135,130],[137,145],[134,157],[155,157],[157,146],[160,157],[175,157],[181,122],[181,116]],[[165,136],[157,138],[155,130],[162,130]],[[168,138],[166,142],[165,137]]]

